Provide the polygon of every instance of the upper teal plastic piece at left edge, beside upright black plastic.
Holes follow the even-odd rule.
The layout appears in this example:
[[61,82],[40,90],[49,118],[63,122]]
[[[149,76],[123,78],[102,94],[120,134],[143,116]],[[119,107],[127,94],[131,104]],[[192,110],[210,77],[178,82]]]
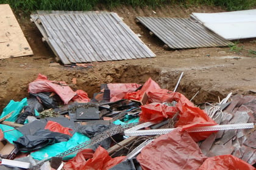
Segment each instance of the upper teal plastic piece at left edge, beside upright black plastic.
[[10,112],[13,112],[11,117],[7,118],[5,121],[15,122],[24,106],[27,106],[27,98],[23,98],[21,101],[11,100],[4,108],[0,118],[5,117],[6,115],[10,114]]

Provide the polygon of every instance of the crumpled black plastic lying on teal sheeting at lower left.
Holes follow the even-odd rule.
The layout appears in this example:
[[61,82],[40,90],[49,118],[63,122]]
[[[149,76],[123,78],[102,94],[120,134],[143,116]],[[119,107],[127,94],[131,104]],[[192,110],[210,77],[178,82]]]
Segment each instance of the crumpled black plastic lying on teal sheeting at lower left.
[[24,135],[18,138],[18,140],[13,141],[13,143],[19,151],[34,151],[49,144],[68,141],[69,138],[71,137],[66,134],[51,132],[48,129],[40,129],[34,135]]

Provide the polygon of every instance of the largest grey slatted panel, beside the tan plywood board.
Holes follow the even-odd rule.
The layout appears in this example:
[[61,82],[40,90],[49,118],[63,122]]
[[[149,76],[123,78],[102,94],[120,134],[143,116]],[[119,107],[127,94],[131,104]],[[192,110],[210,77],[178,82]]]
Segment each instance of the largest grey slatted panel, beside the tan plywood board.
[[38,11],[31,19],[63,64],[155,56],[116,13]]

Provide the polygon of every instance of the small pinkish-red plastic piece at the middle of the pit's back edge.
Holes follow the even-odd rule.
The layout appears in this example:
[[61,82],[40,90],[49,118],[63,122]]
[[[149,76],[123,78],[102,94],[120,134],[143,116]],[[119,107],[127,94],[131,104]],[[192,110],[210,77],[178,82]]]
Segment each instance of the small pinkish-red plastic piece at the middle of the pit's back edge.
[[127,93],[134,92],[140,87],[140,84],[137,83],[111,83],[107,84],[108,89],[110,90],[110,101],[118,101],[126,97]]

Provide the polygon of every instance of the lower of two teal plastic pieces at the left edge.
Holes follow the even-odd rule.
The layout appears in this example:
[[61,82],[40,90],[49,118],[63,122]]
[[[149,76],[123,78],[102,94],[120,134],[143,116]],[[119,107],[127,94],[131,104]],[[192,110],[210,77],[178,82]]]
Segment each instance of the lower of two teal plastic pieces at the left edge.
[[4,132],[4,138],[12,144],[13,144],[13,141],[18,140],[18,138],[23,136],[23,134],[21,134],[20,131],[16,131],[16,130],[9,131],[9,130],[15,129],[14,127],[7,126],[5,124],[0,124],[0,128],[2,129],[3,132],[8,131],[8,132]]

